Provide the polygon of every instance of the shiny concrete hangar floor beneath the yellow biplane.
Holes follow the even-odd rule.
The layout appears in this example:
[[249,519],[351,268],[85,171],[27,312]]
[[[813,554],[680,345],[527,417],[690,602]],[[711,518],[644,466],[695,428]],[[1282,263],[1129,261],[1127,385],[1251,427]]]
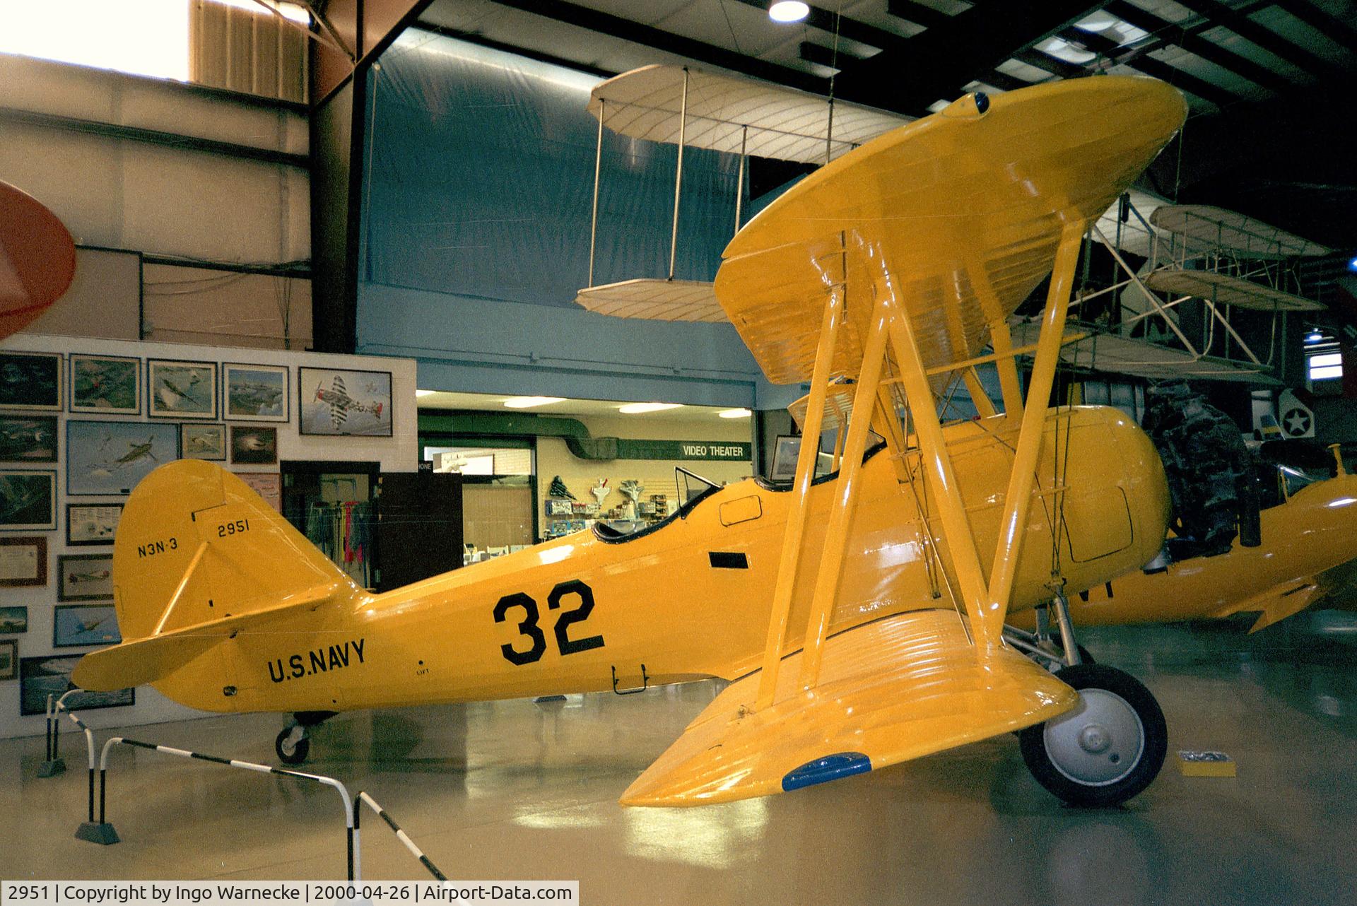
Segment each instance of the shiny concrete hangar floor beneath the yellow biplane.
[[[718,685],[339,716],[309,769],[366,789],[449,876],[579,879],[585,903],[1353,903],[1357,618],[1088,629],[1080,639],[1156,693],[1170,753],[1220,749],[1239,777],[1170,762],[1129,804],[1069,808],[1011,736],[795,793],[688,810],[616,797]],[[129,731],[273,761],[278,716]],[[100,734],[102,736],[103,734]],[[0,742],[0,878],[323,879],[343,875],[330,788],[119,747],[100,848],[72,838],[71,770],[39,780],[43,741]],[[369,812],[369,879],[419,865]]]

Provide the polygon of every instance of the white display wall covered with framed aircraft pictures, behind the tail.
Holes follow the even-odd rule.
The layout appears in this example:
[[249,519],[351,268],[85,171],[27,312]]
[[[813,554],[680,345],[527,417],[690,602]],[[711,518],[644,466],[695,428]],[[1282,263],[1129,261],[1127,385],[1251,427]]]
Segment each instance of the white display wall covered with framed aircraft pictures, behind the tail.
[[[281,509],[280,458],[417,465],[407,359],[22,335],[5,346],[15,342],[39,349],[0,349],[0,738],[41,732],[41,717],[34,730],[20,715],[71,689],[83,654],[121,642],[114,538],[153,469],[212,461]],[[243,361],[221,361],[236,353]],[[251,361],[261,358],[282,361]],[[408,401],[396,404],[394,387]],[[66,703],[147,705],[132,689]],[[161,716],[145,719],[166,719],[163,700],[149,707]]]

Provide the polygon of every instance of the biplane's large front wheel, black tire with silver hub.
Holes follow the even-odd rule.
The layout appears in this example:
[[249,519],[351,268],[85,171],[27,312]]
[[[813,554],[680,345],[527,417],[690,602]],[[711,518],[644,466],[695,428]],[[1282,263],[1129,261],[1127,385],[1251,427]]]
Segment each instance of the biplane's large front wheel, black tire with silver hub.
[[[1155,696],[1129,673],[1101,663],[1064,667],[1056,677],[1080,692],[1080,704],[1018,735],[1031,776],[1071,806],[1120,806],[1144,791],[1168,753]],[[1129,768],[1121,764],[1126,760]]]

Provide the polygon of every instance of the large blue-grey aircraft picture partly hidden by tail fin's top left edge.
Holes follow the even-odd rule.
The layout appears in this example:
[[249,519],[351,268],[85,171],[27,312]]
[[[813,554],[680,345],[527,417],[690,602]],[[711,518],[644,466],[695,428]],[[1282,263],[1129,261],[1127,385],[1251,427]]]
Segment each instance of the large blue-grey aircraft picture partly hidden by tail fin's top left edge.
[[151,469],[176,458],[178,425],[79,419],[66,422],[66,494],[130,494]]

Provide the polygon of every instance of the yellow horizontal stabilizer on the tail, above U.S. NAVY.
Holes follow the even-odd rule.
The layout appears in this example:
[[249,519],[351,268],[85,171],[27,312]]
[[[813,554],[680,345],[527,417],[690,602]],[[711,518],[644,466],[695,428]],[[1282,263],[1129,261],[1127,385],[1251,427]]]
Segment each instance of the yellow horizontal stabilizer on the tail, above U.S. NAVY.
[[338,595],[347,597],[350,590],[350,586],[338,582],[319,586],[311,591],[292,595],[271,608],[199,623],[94,651],[80,659],[71,674],[71,681],[91,692],[111,692],[155,682],[243,628],[266,623],[284,612],[316,608]]

